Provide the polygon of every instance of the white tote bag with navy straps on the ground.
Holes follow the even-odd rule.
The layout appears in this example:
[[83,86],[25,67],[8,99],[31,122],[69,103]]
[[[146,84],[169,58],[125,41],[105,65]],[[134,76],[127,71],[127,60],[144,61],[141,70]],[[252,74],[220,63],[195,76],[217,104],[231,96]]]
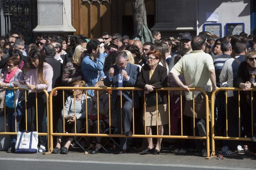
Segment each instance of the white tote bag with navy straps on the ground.
[[18,132],[15,145],[15,153],[37,153],[37,145],[37,132]]

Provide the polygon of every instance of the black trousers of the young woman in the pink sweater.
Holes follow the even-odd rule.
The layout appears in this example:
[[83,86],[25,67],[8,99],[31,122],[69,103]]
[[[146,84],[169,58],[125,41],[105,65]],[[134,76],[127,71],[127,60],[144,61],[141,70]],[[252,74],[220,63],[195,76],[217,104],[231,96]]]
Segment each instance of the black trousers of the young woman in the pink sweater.
[[[38,132],[47,133],[46,124],[46,95],[44,92],[37,93],[37,122]],[[36,131],[36,93],[29,93],[27,101],[27,124],[28,131]],[[38,136],[38,146],[47,144],[47,136]]]

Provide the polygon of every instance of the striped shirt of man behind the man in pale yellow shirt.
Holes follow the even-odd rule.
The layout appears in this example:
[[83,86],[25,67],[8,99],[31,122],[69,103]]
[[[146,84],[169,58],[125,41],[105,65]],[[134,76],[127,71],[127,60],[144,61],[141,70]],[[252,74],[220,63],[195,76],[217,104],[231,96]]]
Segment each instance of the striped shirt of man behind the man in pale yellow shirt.
[[216,56],[213,60],[214,68],[215,68],[215,74],[216,74],[216,84],[218,87],[220,87],[220,73],[223,68],[223,65],[227,59],[231,58],[228,54],[222,54],[219,56]]

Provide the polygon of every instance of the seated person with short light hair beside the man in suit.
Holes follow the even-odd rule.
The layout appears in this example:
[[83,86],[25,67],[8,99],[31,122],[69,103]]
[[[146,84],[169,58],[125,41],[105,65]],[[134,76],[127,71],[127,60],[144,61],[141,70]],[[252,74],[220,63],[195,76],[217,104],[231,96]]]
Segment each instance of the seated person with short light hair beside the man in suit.
[[[97,82],[94,87],[106,87],[102,81]],[[99,95],[99,102],[97,98]],[[99,104],[99,108],[98,108]],[[88,115],[88,133],[98,134],[98,109],[99,109],[99,134],[103,133],[103,129],[109,127],[109,95],[106,90],[94,90],[93,101],[90,106]],[[110,115],[111,127],[117,127],[116,115]],[[86,123],[84,123],[86,129]],[[101,137],[90,137],[90,147],[87,152],[90,154],[100,153],[102,149]]]

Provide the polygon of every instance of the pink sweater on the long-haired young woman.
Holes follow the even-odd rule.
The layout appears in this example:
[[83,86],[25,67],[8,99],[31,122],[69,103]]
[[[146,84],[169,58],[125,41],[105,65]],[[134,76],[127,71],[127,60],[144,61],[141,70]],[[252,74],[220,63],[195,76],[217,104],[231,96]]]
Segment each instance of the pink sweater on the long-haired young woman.
[[[43,92],[43,89],[46,89],[46,91],[51,91],[52,88],[52,76],[53,76],[53,70],[50,64],[44,63],[44,69],[43,74],[46,82],[48,84],[41,84],[41,82],[38,82],[38,68],[33,68],[27,70],[26,79],[25,81],[27,84],[36,85],[37,84],[37,93]],[[36,90],[29,90],[29,92],[35,93]]]

